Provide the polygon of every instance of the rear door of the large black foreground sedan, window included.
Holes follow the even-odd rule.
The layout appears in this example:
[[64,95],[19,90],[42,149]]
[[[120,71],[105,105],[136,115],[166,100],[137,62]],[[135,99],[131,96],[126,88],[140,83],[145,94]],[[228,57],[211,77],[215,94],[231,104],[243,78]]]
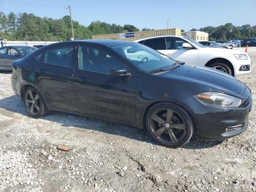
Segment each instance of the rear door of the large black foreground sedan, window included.
[[78,112],[73,83],[75,46],[70,43],[37,54],[34,76],[48,106]]

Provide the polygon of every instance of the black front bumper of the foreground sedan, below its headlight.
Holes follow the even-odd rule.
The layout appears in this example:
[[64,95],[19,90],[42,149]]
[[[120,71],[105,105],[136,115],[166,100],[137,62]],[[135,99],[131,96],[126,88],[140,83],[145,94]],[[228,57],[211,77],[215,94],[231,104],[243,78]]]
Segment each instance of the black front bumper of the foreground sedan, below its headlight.
[[237,136],[248,128],[252,96],[243,99],[241,107],[225,108],[204,105],[194,97],[184,101],[196,124],[197,140],[224,140]]

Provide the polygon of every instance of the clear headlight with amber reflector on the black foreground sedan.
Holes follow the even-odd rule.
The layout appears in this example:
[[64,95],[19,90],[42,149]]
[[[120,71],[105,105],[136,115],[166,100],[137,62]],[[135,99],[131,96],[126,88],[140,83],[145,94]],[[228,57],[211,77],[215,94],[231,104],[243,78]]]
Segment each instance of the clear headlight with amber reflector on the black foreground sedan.
[[204,92],[194,96],[198,101],[207,105],[238,107],[242,99],[217,92]]

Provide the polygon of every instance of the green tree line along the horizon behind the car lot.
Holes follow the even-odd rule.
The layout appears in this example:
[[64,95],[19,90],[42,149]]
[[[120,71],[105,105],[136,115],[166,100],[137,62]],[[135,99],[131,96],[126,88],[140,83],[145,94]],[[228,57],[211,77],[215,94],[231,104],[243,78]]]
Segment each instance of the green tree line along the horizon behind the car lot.
[[[124,26],[93,21],[89,26],[83,26],[78,21],[73,21],[75,39],[91,39],[92,35],[125,33],[140,31],[133,25]],[[142,31],[154,30],[143,28]],[[196,30],[195,28],[191,29]],[[243,39],[256,37],[256,25],[249,24],[234,26],[232,23],[213,27],[207,26],[198,29],[209,33],[210,40]],[[182,30],[184,31],[184,30]],[[70,16],[61,19],[38,17],[34,14],[10,12],[6,16],[0,12],[0,37],[7,40],[24,41],[66,41],[71,40],[72,31]]]

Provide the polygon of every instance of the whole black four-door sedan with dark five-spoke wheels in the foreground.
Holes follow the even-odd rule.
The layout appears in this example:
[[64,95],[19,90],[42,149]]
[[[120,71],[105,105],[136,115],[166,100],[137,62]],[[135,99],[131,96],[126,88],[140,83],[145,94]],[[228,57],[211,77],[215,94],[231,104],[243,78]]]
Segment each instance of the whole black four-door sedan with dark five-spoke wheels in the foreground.
[[60,42],[12,65],[12,89],[34,118],[49,110],[104,118],[145,127],[173,148],[194,132],[199,140],[223,140],[248,127],[252,96],[246,85],[139,43]]

